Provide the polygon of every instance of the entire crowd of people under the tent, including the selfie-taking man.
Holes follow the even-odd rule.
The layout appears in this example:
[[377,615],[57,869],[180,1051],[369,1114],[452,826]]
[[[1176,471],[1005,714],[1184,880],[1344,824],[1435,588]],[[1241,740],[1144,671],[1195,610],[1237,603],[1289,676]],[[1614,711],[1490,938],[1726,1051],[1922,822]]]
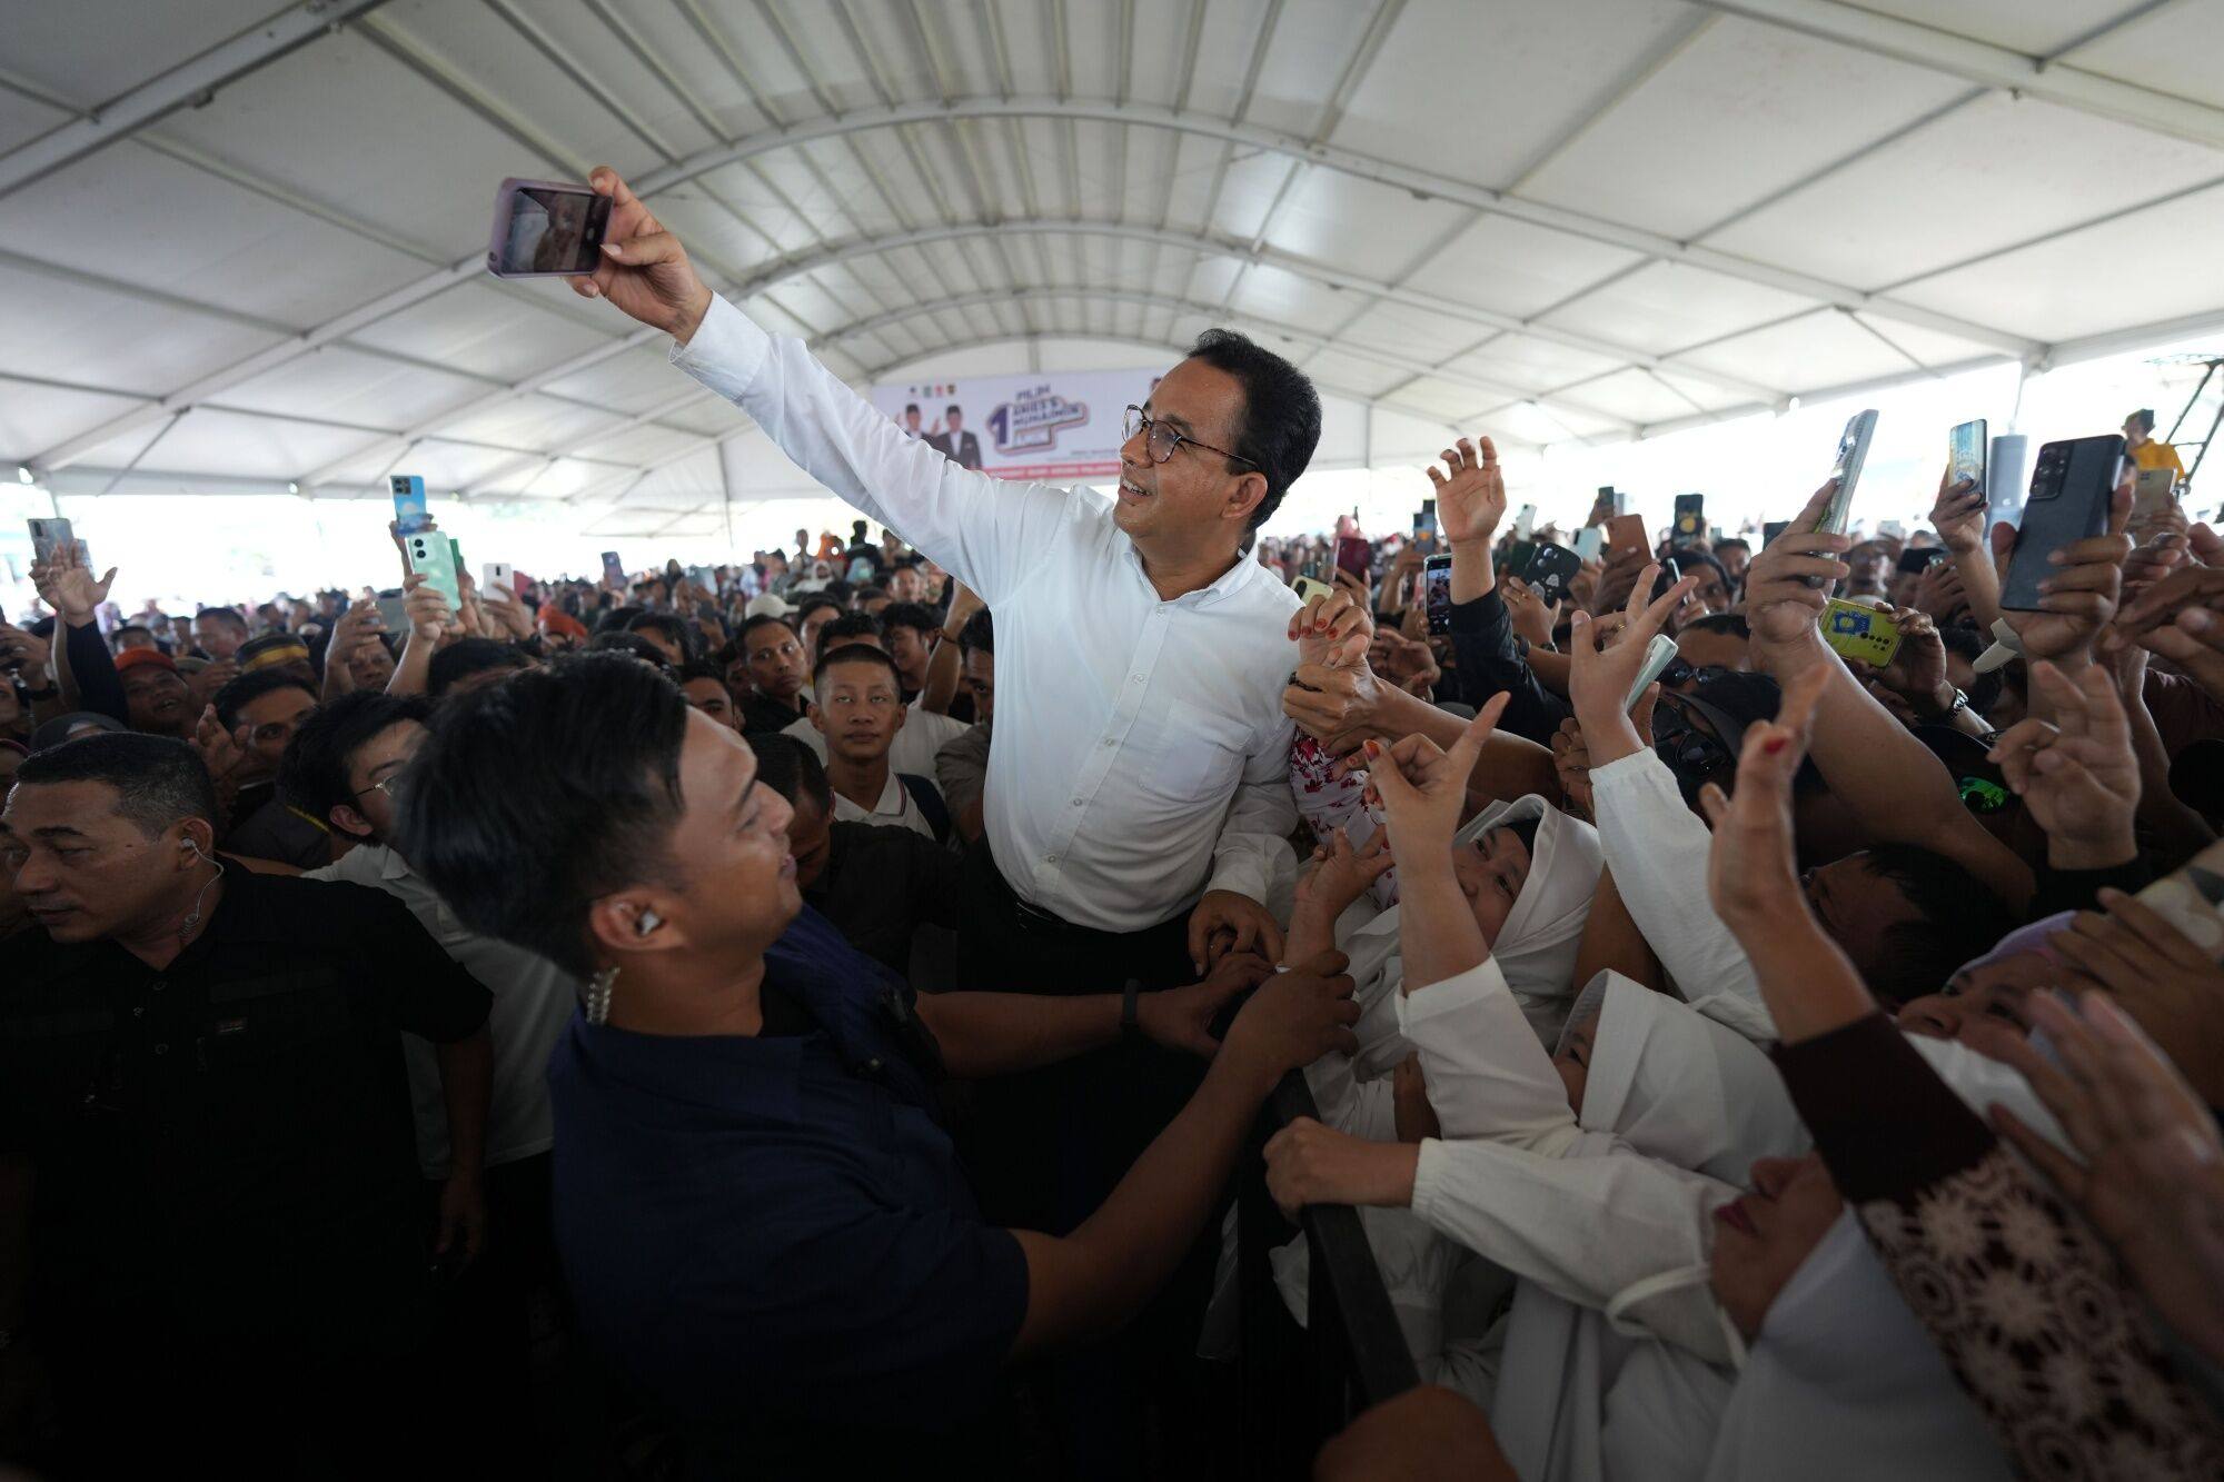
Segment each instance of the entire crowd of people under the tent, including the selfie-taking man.
[[883,534],[456,601],[396,534],[385,594],[193,614],[38,565],[0,1458],[1228,1471],[1230,1186],[1301,1075],[1265,1184],[1361,1211],[1423,1380],[1321,1475],[2224,1473],[2182,505],[1601,541],[1477,436],[1410,536],[1261,539],[1321,407],[1243,336],[1110,503],[999,483],[594,187],[574,287]]

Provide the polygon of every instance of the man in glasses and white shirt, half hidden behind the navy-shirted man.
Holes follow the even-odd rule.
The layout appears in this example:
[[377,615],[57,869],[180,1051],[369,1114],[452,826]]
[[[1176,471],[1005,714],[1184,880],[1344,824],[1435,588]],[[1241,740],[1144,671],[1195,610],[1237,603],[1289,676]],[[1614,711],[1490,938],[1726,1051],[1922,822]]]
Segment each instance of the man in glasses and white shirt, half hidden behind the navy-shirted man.
[[[427,737],[429,705],[416,696],[356,690],[309,717],[294,734],[280,772],[285,799],[329,821],[356,846],[309,879],[385,890],[409,908],[465,972],[494,995],[494,1090],[487,1113],[487,1224],[494,1231],[458,1280],[449,1302],[447,1346],[487,1404],[529,1404],[527,1328],[536,1286],[556,1282],[549,1224],[549,1050],[578,1001],[576,979],[525,948],[467,930],[394,848],[394,788]],[[447,1168],[447,1110],[434,1048],[403,1035],[418,1162],[427,1179]],[[520,1413],[520,1411],[509,1411]]]

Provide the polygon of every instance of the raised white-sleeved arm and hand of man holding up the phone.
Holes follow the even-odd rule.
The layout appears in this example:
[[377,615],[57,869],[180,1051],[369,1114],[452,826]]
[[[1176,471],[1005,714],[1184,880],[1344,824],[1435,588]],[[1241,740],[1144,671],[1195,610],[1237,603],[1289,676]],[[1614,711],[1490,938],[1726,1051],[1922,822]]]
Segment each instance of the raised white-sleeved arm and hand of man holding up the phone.
[[572,278],[583,298],[607,298],[667,332],[672,363],[718,392],[765,429],[796,467],[894,527],[1001,603],[1072,514],[1068,494],[961,470],[910,438],[803,347],[772,336],[696,276],[687,249],[609,167],[587,176],[612,198],[603,265]]

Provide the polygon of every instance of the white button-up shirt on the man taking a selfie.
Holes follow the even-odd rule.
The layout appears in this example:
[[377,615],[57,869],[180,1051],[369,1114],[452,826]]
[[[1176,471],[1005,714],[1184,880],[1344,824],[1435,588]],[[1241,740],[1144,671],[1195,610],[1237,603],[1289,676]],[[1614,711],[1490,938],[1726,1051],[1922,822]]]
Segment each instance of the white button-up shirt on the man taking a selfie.
[[959,467],[723,298],[672,363],[996,612],[983,817],[1021,899],[1134,932],[1203,890],[1265,897],[1297,826],[1290,587],[1239,559],[1161,601],[1101,496]]

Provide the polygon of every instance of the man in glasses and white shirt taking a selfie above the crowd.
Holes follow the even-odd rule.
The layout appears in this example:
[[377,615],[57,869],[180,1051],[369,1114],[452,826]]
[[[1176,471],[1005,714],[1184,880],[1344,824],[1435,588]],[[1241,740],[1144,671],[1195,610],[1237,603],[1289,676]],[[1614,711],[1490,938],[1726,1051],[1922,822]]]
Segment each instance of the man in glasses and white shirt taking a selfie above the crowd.
[[681,369],[1012,623],[985,801],[1007,899],[974,966],[1012,986],[1056,968],[1085,990],[1163,981],[1183,955],[1201,972],[1228,946],[1279,955],[1261,897],[1297,821],[1281,714],[1297,596],[1241,550],[1312,458],[1312,385],[1214,332],[1130,414],[1112,507],[987,478],[716,298],[614,171],[592,185],[614,200],[605,263],[572,287],[669,332]]

